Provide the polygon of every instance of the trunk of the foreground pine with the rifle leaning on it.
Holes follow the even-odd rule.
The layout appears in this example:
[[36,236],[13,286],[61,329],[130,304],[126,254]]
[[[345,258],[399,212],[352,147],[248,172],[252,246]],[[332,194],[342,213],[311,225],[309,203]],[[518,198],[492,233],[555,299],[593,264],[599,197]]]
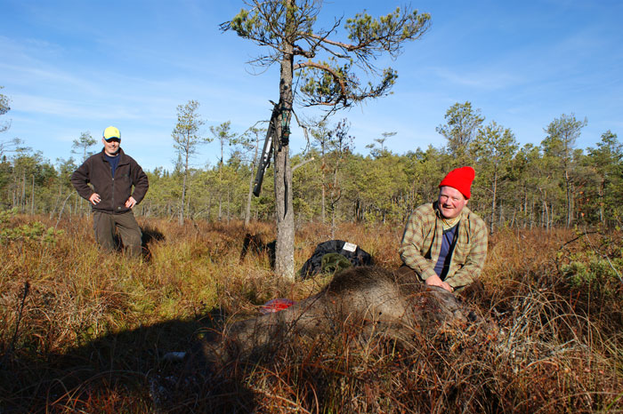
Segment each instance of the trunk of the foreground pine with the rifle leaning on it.
[[[293,0],[288,0],[292,2]],[[292,203],[292,167],[289,147],[283,140],[282,123],[289,120],[292,109],[293,44],[284,42],[279,79],[279,122],[277,139],[272,143],[275,154],[275,214],[277,221],[277,243],[275,246],[275,273],[283,280],[295,280],[295,215]],[[287,119],[284,119],[284,116]]]

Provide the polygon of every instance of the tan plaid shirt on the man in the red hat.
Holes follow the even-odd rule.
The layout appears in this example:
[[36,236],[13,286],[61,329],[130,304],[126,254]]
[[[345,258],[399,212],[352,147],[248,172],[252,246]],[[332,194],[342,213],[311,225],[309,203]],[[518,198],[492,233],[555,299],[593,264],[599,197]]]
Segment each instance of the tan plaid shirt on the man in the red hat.
[[[487,257],[487,226],[467,207],[461,211],[457,243],[452,251],[444,282],[455,291],[464,288],[481,274]],[[433,270],[441,251],[443,227],[437,203],[418,207],[409,216],[402,235],[401,259],[425,281],[436,275]]]

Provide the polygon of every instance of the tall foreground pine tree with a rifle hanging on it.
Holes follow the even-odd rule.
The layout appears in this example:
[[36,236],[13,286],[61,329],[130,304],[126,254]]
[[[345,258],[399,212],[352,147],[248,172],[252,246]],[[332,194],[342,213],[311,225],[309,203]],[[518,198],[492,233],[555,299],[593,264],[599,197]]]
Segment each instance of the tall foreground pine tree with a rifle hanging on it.
[[[397,74],[379,70],[375,60],[383,53],[397,57],[405,42],[422,36],[430,16],[409,9],[396,9],[378,19],[358,13],[345,20],[346,36],[337,37],[342,19],[320,28],[320,0],[246,0],[247,8],[222,24],[266,52],[255,64],[279,64],[279,116],[273,140],[277,245],[275,271],[294,280],[295,221],[292,168],[289,159],[289,122],[295,98],[303,106],[326,107],[333,112],[390,92]],[[293,83],[297,73],[299,82]],[[360,81],[369,77],[368,84]],[[295,85],[301,85],[295,91]]]

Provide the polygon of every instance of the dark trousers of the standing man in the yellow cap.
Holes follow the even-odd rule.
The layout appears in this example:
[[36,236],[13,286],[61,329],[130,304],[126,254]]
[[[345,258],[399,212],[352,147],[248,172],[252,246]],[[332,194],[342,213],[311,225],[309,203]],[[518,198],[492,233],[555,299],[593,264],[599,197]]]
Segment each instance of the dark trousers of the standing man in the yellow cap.
[[121,236],[125,253],[130,256],[141,256],[142,233],[139,224],[134,218],[134,212],[127,211],[121,214],[109,214],[102,211],[93,211],[93,230],[95,240],[106,250],[114,251],[115,228]]

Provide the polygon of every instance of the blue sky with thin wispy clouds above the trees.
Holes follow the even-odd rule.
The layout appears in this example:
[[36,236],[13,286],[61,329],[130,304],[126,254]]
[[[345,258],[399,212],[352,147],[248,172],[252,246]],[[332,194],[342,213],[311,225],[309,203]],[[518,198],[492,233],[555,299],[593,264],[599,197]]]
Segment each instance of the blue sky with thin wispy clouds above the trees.
[[[319,24],[366,9],[386,14],[402,2],[325,2]],[[391,65],[393,94],[339,112],[348,118],[355,151],[383,132],[385,145],[404,154],[442,147],[435,127],[447,109],[469,100],[485,123],[514,131],[520,144],[538,144],[562,114],[587,118],[577,147],[594,147],[611,130],[623,140],[623,2],[620,0],[414,1],[432,16],[430,30],[406,44]],[[240,1],[0,0],[0,86],[12,110],[0,142],[20,138],[44,158],[71,156],[81,132],[101,138],[112,124],[122,147],[144,169],[174,164],[171,131],[176,107],[198,100],[208,127],[231,121],[245,131],[270,116],[279,98],[279,68],[259,75],[246,64],[262,49],[221,33]],[[338,31],[344,40],[344,31]],[[303,108],[295,108],[305,114]],[[292,151],[305,147],[295,129]],[[97,148],[99,149],[100,146]],[[95,149],[95,148],[93,148]],[[194,165],[214,165],[215,143]],[[74,155],[79,158],[79,155]]]

